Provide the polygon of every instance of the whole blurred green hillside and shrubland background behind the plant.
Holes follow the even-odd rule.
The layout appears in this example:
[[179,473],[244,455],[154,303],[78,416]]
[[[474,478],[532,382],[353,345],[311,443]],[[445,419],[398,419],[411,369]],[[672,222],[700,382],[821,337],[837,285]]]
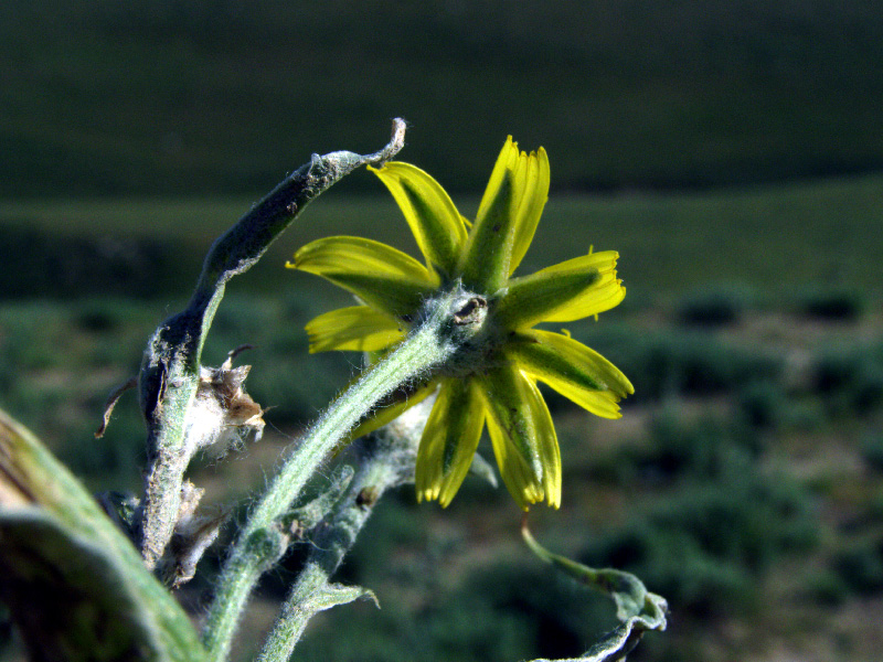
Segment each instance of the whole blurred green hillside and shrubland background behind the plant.
[[[619,250],[626,301],[570,330],[636,386],[619,421],[550,395],[564,504],[535,509],[534,533],[669,598],[669,631],[630,660],[875,661],[881,72],[883,9],[859,0],[7,0],[0,406],[91,488],[137,490],[135,398],[92,433],[213,237],[311,152],[377,149],[396,116],[401,158],[469,216],[512,134],[552,163],[522,271]],[[195,468],[215,502],[258,489],[357,370],[308,355],[302,331],[345,296],[283,268],[329,234],[415,248],[357,172],[231,284],[205,357],[256,345],[242,360],[273,429]],[[383,609],[322,615],[300,659],[584,650],[610,606],[552,577],[518,522],[477,481],[446,511],[390,498],[342,570]],[[243,659],[298,558],[264,583]],[[198,610],[206,588],[182,599]]]

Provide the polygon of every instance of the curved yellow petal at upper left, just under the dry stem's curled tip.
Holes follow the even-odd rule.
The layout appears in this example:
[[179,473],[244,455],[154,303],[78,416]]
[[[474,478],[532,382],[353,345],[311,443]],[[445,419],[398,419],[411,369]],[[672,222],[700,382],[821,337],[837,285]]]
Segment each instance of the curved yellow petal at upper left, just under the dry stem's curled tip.
[[450,196],[426,172],[411,163],[368,167],[386,184],[402,210],[427,264],[453,276],[466,243],[466,226]]

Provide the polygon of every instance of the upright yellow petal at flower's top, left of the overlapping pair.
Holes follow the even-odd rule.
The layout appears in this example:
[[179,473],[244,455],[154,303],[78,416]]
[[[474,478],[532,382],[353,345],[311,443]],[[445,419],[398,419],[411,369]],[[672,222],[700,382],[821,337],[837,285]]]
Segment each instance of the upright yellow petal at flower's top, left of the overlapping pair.
[[477,292],[496,292],[511,273],[518,212],[535,158],[519,152],[511,136],[497,158],[458,269],[464,285]]

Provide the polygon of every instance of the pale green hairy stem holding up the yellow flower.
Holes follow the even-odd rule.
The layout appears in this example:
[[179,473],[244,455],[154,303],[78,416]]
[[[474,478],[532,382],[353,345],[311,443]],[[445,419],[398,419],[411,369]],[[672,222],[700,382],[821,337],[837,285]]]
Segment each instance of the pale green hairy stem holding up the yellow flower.
[[285,551],[277,519],[291,508],[320,465],[383,397],[414,380],[426,378],[480,331],[483,320],[464,323],[458,317],[472,299],[472,295],[455,288],[427,301],[428,314],[423,322],[394,352],[365,371],[298,442],[297,451],[251,512],[221,573],[203,632],[210,660],[226,659],[254,584]]

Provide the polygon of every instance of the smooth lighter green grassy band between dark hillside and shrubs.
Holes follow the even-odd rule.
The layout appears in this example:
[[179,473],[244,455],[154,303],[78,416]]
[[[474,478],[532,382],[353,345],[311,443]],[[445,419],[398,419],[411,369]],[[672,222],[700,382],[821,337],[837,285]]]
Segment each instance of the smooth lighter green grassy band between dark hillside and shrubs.
[[[120,282],[145,284],[132,286],[138,296],[173,292],[180,297],[192,286],[214,237],[252,202],[0,202],[2,232],[13,238],[30,237],[33,244],[30,248],[15,242],[0,244],[0,259],[19,265],[0,279],[6,284],[4,293],[103,291],[98,288],[106,286],[105,276],[93,263],[104,260],[105,271],[113,267],[110,276],[117,274]],[[475,213],[475,197],[457,196],[457,202],[465,215]],[[570,259],[594,246],[619,252],[619,275],[630,291],[627,301],[685,297],[708,291],[709,282],[740,284],[763,300],[792,300],[795,291],[807,291],[833,278],[849,284],[842,289],[857,292],[853,299],[871,303],[883,297],[879,278],[883,242],[877,238],[881,206],[883,175],[701,194],[577,196],[553,190],[519,273]],[[838,218],[837,224],[830,222],[832,217]],[[337,234],[368,236],[417,255],[391,200],[351,197],[345,189],[336,189],[312,203],[262,261],[231,287],[276,292],[301,289],[304,286],[296,284],[306,282],[298,281],[304,276],[285,270],[285,260],[305,243]],[[63,274],[61,267],[47,266],[38,256],[41,247],[60,265],[67,265]],[[742,306],[734,291],[724,302],[733,313]],[[709,305],[703,303],[705,308]]]

